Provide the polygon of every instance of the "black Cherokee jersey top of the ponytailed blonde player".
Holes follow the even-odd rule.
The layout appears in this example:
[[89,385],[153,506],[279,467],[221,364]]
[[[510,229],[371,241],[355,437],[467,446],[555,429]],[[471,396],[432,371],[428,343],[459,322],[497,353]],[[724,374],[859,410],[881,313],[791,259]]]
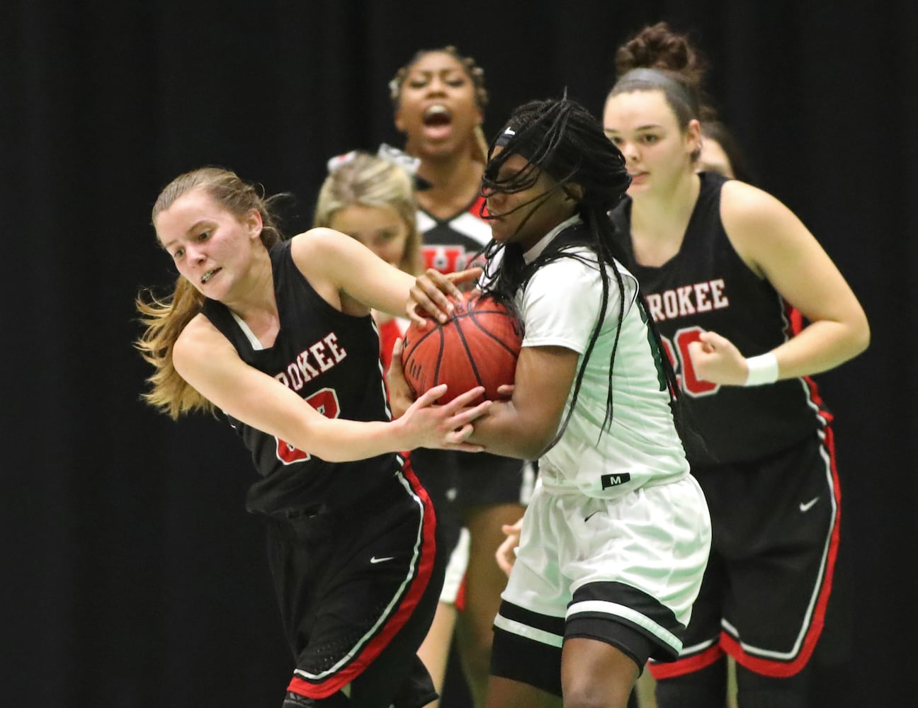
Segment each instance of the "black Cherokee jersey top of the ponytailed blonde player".
[[[223,304],[207,300],[204,315],[243,361],[283,382],[322,415],[389,420],[373,318],[344,315],[323,300],[297,268],[289,241],[271,250],[271,261],[280,317],[273,347],[260,348]],[[394,453],[327,462],[241,421],[229,418],[229,424],[252,452],[262,477],[249,491],[246,506],[252,512],[342,508],[377,490],[401,464]]]

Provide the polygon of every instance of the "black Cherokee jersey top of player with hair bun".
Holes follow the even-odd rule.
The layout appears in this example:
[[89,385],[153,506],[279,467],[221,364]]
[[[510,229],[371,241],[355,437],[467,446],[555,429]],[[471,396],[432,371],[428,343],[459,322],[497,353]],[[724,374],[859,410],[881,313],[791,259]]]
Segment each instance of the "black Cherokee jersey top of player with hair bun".
[[634,260],[629,197],[611,212],[626,266],[638,278],[670,359],[677,369],[687,423],[703,445],[686,440],[693,464],[758,459],[787,448],[827,423],[815,384],[808,377],[766,386],[702,382],[691,370],[689,343],[701,332],[728,338],[744,356],[777,347],[793,334],[789,304],[739,257],[721,222],[726,178],[702,172],[698,202],[676,256],[659,268]]

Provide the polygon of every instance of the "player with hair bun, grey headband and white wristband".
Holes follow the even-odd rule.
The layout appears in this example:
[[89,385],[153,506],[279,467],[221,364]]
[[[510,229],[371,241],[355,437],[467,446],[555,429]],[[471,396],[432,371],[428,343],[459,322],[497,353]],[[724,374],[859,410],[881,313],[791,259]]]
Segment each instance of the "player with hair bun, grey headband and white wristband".
[[729,654],[741,708],[804,708],[841,515],[832,415],[810,376],[867,348],[867,318],[785,205],[696,172],[702,72],[685,36],[644,28],[616,68],[603,124],[632,183],[611,216],[688,394],[713,524],[685,648],[651,664],[656,701],[723,705]]

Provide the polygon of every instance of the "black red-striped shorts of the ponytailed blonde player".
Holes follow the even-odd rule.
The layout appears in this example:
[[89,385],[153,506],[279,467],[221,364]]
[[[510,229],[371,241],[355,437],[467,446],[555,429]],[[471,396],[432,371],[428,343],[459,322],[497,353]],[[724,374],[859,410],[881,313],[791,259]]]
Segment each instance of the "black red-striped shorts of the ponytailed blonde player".
[[355,708],[420,708],[436,697],[416,657],[443,579],[435,527],[410,468],[344,512],[288,512],[269,524],[269,562],[297,662],[288,696],[321,704],[341,691]]

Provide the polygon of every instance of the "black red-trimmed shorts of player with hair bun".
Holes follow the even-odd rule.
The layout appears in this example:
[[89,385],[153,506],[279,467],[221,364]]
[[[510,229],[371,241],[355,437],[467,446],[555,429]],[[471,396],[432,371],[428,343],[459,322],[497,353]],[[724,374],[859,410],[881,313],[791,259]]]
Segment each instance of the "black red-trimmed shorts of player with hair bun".
[[839,543],[832,429],[765,459],[694,468],[711,509],[711,559],[677,662],[656,679],[704,669],[724,652],[787,678],[823,631]]

